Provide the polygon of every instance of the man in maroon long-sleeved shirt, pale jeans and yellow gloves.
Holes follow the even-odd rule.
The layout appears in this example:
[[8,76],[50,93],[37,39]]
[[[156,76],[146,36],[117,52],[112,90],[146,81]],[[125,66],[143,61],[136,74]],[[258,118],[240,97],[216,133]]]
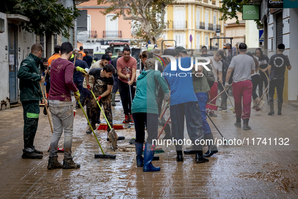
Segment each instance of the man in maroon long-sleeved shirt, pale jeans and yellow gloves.
[[[49,160],[47,169],[78,169],[80,164],[72,158],[74,114],[71,90],[75,93],[76,101],[80,100],[80,92],[73,81],[74,71],[87,74],[81,67],[74,67],[70,62],[73,45],[64,42],[61,45],[61,57],[51,63],[51,88],[49,90],[49,107],[53,120],[53,134],[51,137]],[[63,166],[57,160],[57,146],[64,131],[64,160]]]

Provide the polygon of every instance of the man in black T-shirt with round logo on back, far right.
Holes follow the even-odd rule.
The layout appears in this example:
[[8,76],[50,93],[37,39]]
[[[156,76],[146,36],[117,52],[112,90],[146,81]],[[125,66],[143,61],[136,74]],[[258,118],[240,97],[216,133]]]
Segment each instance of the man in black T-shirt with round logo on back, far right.
[[274,114],[274,102],[273,102],[273,95],[277,92],[277,107],[278,112],[277,115],[281,115],[281,107],[283,103],[283,84],[284,84],[284,73],[285,67],[288,70],[291,70],[291,65],[287,56],[283,55],[284,51],[284,44],[280,43],[277,46],[277,54],[271,56],[268,64],[268,72],[269,76],[269,105],[270,105],[270,112],[268,115]]

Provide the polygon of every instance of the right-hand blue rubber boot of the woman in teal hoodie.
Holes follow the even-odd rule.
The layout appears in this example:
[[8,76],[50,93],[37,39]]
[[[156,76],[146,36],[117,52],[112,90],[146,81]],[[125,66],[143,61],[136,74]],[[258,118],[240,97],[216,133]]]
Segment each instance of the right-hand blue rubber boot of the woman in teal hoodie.
[[[147,150],[148,147],[148,150]],[[154,148],[155,146],[152,144],[145,144],[145,150],[144,150],[144,172],[155,172],[160,171],[160,167],[154,167],[151,163],[154,157]]]

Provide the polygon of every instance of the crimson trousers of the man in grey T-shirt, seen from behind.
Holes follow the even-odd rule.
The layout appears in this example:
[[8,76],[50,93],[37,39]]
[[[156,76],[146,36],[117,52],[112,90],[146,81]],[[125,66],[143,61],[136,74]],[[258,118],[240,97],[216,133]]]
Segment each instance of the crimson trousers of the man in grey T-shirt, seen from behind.
[[[251,117],[251,104],[252,104],[252,92],[253,83],[251,80],[233,82],[233,96],[235,101],[235,113],[237,118],[243,120]],[[243,109],[242,109],[243,102]]]

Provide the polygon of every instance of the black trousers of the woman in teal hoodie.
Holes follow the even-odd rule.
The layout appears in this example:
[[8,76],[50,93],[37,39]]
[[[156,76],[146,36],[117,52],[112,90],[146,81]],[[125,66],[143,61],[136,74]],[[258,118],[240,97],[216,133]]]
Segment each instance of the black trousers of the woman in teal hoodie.
[[147,127],[147,143],[152,144],[152,140],[157,140],[158,135],[158,115],[153,113],[134,113],[133,114],[136,142],[144,143],[145,141],[145,125]]

